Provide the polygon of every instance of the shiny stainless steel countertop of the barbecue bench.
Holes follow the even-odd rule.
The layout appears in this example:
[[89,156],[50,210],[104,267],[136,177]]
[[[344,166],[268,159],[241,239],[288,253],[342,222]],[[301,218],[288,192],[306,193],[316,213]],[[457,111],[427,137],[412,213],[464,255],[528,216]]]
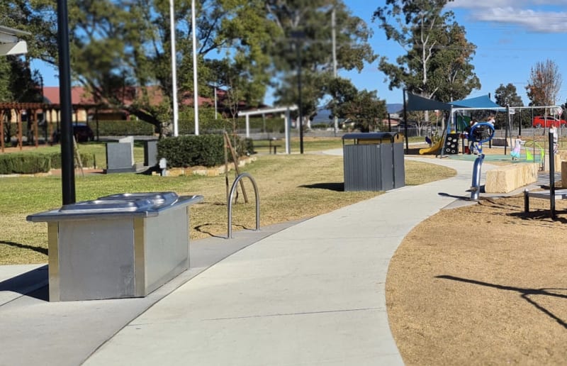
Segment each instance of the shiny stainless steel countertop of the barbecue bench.
[[92,219],[94,216],[158,216],[159,211],[173,206],[196,204],[203,196],[177,196],[175,192],[140,192],[111,194],[90,201],[67,204],[60,209],[28,216],[28,221],[63,221]]

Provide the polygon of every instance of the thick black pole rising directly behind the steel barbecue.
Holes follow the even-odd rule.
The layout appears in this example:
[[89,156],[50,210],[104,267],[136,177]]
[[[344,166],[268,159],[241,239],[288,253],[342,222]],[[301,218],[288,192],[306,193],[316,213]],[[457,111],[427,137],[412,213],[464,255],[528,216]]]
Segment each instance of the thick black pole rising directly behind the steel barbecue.
[[59,48],[59,96],[61,104],[61,182],[63,204],[75,203],[73,132],[71,126],[71,67],[69,65],[69,18],[67,0],[57,0]]

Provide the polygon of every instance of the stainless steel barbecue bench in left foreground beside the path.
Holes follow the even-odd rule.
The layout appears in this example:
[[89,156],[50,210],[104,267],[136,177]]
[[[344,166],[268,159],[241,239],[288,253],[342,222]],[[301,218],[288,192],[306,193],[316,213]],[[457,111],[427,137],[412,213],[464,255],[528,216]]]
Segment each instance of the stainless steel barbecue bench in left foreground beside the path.
[[189,207],[203,196],[124,193],[27,217],[47,222],[50,301],[142,297],[189,268]]

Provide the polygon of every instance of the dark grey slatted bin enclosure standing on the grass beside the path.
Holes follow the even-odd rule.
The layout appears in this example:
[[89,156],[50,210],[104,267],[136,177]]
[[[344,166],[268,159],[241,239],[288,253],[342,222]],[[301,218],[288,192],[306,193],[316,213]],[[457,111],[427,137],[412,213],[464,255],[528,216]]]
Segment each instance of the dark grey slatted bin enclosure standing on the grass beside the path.
[[347,133],[342,143],[345,191],[388,191],[405,186],[403,135]]

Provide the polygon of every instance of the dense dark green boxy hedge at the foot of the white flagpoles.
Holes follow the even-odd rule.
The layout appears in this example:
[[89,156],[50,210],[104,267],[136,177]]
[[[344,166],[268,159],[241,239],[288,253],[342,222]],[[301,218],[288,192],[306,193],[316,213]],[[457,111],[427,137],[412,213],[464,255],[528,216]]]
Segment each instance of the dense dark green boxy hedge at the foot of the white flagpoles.
[[[252,140],[237,138],[239,156],[252,153]],[[157,143],[158,158],[165,157],[169,167],[215,167],[225,163],[223,135],[186,135],[164,138]],[[229,160],[232,157],[229,154]]]

